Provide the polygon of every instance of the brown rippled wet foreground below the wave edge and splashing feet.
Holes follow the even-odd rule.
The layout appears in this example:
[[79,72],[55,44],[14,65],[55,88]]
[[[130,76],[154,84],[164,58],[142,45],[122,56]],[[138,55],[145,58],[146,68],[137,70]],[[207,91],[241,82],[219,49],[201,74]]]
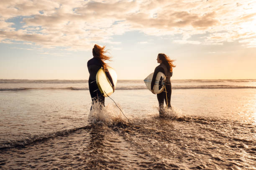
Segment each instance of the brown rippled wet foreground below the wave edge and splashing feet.
[[207,117],[91,122],[0,150],[0,169],[256,169],[255,125]]

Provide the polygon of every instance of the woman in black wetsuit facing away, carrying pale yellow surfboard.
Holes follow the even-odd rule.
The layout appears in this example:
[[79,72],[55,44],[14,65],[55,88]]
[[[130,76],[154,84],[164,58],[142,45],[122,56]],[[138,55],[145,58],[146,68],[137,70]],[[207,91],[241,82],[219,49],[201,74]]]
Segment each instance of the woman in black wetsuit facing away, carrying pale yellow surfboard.
[[[96,82],[96,75],[98,70],[100,70],[101,67],[105,71],[108,77],[108,80],[112,85],[113,91],[115,91],[115,85],[113,83],[112,77],[110,76],[110,73],[108,72],[108,68],[107,68],[108,64],[104,62],[105,60],[110,60],[110,57],[105,55],[105,53],[106,53],[105,46],[100,47],[99,45],[95,44],[92,49],[93,58],[87,62],[87,67],[90,74],[88,82],[89,82],[90,95],[92,98],[92,105],[95,102],[99,102],[101,107],[105,106],[105,97],[103,96],[103,94],[101,94]],[[91,107],[91,110],[92,110],[92,107]]]

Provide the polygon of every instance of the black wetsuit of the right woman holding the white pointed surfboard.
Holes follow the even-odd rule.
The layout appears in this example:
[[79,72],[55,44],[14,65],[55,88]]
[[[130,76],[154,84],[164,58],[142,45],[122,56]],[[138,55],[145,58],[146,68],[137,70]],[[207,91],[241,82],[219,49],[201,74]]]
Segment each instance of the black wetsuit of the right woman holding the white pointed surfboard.
[[[164,65],[163,63],[161,63],[159,66],[157,66],[155,68],[153,77],[152,77],[152,81],[151,81],[151,90],[153,90],[154,87],[154,82],[156,80],[156,75],[158,72],[163,72],[164,75],[166,76],[166,80],[165,80],[165,88],[163,92],[157,94],[157,100],[159,102],[159,114],[162,115],[163,114],[163,109],[164,109],[164,101],[165,104],[168,107],[172,107],[171,106],[171,95],[172,95],[172,84],[171,84],[171,77],[172,77],[172,72],[168,71],[169,68],[166,67],[166,65]],[[166,95],[167,95],[167,100],[166,100]]]

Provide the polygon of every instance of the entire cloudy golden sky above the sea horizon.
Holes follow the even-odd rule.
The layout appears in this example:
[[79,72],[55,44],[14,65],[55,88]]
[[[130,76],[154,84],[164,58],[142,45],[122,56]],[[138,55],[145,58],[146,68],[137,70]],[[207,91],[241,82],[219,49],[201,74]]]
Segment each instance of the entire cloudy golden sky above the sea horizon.
[[0,0],[0,79],[88,80],[95,44],[119,80],[158,53],[172,79],[256,79],[256,0]]

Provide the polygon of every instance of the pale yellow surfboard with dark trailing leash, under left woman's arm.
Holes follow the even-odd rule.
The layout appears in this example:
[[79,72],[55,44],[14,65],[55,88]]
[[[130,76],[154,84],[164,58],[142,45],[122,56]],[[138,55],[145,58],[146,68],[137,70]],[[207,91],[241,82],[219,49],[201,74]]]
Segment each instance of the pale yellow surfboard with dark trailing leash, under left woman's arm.
[[[108,67],[108,71],[109,71],[109,73],[112,77],[113,83],[116,87],[117,74],[112,67]],[[110,81],[108,80],[108,77],[107,77],[106,73],[104,72],[103,68],[100,68],[100,70],[98,70],[97,75],[96,75],[96,82],[97,82],[100,92],[102,94],[104,94],[103,96],[107,97],[113,93],[112,85],[111,85]]]

